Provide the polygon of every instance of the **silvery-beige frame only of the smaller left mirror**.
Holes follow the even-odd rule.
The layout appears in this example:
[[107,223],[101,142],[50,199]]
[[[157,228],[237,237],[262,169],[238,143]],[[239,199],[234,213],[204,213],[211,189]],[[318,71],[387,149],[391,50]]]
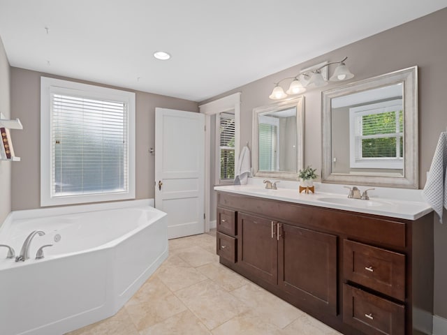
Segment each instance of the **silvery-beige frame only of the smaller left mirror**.
[[[280,110],[286,110],[296,107],[296,172],[285,171],[260,171],[259,170],[259,122],[258,116],[269,112],[277,112]],[[253,175],[254,177],[265,177],[274,179],[288,179],[297,180],[298,171],[303,167],[304,161],[304,142],[305,142],[305,97],[299,96],[288,101],[281,101],[272,105],[266,105],[261,107],[255,107],[253,110],[253,129],[252,129],[252,147],[253,151],[251,156],[253,157]]]

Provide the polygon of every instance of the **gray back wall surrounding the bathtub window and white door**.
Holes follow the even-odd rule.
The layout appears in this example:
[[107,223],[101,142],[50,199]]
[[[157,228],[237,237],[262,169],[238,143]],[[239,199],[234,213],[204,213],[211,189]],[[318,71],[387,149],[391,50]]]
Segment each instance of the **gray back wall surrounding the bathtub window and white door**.
[[[11,207],[13,210],[34,209],[40,207],[41,203],[41,75],[73,79],[22,68],[11,68],[10,73],[12,116],[14,118],[18,117],[24,128],[23,131],[17,131],[13,134],[15,135],[14,150],[17,156],[22,158],[22,161],[14,163]],[[73,81],[85,82],[81,80]],[[92,84],[91,82],[87,83]],[[148,150],[150,147],[155,148],[155,107],[198,112],[198,104],[193,101],[140,91],[136,91],[135,94],[136,198],[154,198],[155,159],[153,155],[149,154]]]

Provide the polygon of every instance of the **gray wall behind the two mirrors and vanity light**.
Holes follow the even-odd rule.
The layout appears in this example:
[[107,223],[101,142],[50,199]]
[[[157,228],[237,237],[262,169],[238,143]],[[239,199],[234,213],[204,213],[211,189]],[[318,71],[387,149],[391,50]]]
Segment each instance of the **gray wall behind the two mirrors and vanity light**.
[[[353,27],[356,29],[356,27]],[[271,104],[268,98],[273,83],[293,77],[300,69],[321,61],[338,61],[348,56],[346,65],[362,80],[410,66],[419,66],[419,169],[420,188],[430,169],[439,133],[447,126],[447,8],[413,20],[399,27],[383,31],[356,43],[323,54],[303,64],[274,73],[256,82],[237,87],[202,103],[242,92],[241,145],[251,142],[251,115],[254,107]],[[296,41],[299,43],[299,38]],[[305,47],[305,45],[303,45]],[[330,72],[333,68],[330,69]],[[351,80],[352,81],[352,80]],[[329,84],[324,90],[342,86]],[[321,90],[305,92],[305,165],[321,170]],[[200,103],[200,104],[202,104]],[[434,222],[435,283],[434,311],[447,318],[447,225]]]

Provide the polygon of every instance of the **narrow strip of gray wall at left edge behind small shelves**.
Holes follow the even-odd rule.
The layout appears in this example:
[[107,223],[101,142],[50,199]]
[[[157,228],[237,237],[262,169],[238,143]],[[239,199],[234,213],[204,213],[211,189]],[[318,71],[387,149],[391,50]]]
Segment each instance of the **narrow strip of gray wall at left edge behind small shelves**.
[[[0,38],[0,112],[10,117],[10,66]],[[15,140],[17,131],[11,133]],[[15,143],[15,141],[14,141]],[[0,161],[0,225],[11,210],[11,168],[13,162]]]

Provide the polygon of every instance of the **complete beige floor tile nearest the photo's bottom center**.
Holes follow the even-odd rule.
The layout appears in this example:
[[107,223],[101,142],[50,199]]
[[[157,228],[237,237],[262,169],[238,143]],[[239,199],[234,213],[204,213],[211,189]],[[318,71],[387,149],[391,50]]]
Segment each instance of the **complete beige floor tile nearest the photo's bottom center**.
[[246,304],[210,280],[179,290],[175,295],[208,329],[214,329],[248,310]]

